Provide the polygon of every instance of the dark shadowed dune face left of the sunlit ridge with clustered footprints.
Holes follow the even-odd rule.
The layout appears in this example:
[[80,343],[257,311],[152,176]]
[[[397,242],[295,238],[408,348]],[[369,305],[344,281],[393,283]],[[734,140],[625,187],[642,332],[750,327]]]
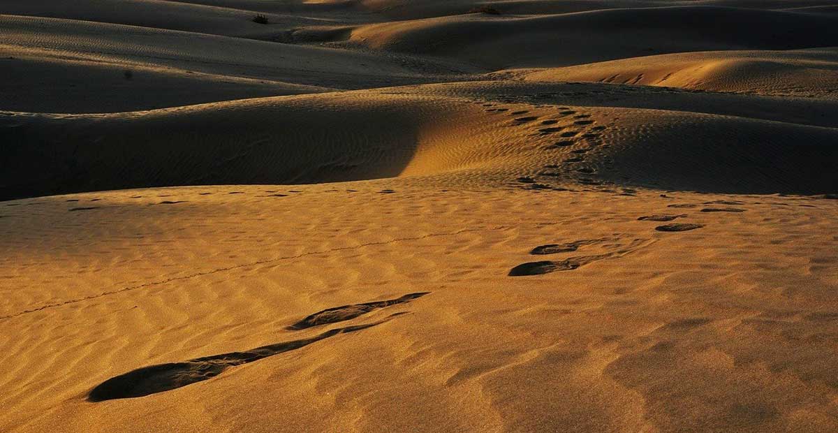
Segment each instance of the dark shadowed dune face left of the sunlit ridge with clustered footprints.
[[112,115],[5,113],[2,195],[392,177],[417,143],[446,133],[441,124],[468,117],[446,122],[456,111],[424,100],[349,94]]

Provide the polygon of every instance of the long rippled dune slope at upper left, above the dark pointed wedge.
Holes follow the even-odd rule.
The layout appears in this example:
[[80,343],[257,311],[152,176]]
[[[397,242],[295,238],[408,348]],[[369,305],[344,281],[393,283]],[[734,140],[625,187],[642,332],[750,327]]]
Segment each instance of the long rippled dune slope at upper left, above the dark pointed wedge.
[[[427,82],[397,59],[157,28],[57,18],[0,16],[2,44],[54,57],[190,70],[318,87]],[[59,71],[56,71],[58,74]]]

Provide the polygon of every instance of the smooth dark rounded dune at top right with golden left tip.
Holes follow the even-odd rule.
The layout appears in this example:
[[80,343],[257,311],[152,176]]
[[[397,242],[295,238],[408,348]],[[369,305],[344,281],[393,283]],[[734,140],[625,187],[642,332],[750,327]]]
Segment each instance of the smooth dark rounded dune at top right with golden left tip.
[[685,51],[835,46],[836,23],[834,16],[746,8],[631,8],[370,24],[356,28],[350,40],[375,49],[447,56],[502,69]]

